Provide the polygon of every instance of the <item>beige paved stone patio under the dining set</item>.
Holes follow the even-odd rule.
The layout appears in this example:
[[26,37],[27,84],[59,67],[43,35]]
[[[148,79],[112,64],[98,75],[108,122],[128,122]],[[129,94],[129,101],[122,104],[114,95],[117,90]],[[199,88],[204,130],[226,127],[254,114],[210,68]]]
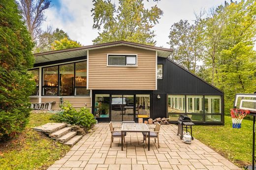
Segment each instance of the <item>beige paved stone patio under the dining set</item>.
[[160,148],[151,139],[150,151],[142,143],[142,133],[128,133],[127,146],[121,151],[118,138],[110,148],[109,123],[98,123],[93,133],[86,134],[48,170],[240,170],[196,139],[191,145],[183,143],[176,133],[176,125],[161,125]]

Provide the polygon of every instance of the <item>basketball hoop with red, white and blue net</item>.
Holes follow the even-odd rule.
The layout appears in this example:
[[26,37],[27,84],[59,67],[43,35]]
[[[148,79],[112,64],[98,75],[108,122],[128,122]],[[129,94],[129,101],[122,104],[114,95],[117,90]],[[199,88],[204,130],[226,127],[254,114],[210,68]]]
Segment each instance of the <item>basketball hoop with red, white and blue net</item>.
[[246,117],[247,114],[250,113],[249,110],[242,110],[242,109],[230,109],[231,117],[232,117],[232,127],[233,128],[241,128],[241,123]]

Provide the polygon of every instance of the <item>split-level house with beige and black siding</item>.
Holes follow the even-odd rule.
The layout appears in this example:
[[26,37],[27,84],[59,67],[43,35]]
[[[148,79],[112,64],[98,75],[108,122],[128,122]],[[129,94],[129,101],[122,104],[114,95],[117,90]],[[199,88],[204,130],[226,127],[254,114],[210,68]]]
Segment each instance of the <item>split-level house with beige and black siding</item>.
[[224,124],[224,93],[171,61],[172,49],[126,41],[34,54],[32,103],[88,107],[98,121],[158,117]]

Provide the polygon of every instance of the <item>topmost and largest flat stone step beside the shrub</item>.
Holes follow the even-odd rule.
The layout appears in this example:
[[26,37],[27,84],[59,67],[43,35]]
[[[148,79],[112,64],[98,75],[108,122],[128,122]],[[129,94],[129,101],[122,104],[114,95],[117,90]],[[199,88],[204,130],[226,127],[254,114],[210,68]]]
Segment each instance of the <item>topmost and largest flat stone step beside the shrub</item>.
[[66,125],[67,125],[66,123],[46,123],[44,125],[34,127],[33,129],[46,134],[50,134],[59,129],[66,127]]

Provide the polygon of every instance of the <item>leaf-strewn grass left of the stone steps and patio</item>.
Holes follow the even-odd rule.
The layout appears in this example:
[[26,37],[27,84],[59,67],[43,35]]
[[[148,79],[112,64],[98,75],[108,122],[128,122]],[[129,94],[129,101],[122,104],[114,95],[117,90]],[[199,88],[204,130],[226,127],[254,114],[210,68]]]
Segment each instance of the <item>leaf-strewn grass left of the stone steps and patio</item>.
[[32,127],[51,122],[50,116],[32,113],[26,129],[5,146],[0,146],[0,170],[45,170],[65,155],[69,146],[32,130]]

